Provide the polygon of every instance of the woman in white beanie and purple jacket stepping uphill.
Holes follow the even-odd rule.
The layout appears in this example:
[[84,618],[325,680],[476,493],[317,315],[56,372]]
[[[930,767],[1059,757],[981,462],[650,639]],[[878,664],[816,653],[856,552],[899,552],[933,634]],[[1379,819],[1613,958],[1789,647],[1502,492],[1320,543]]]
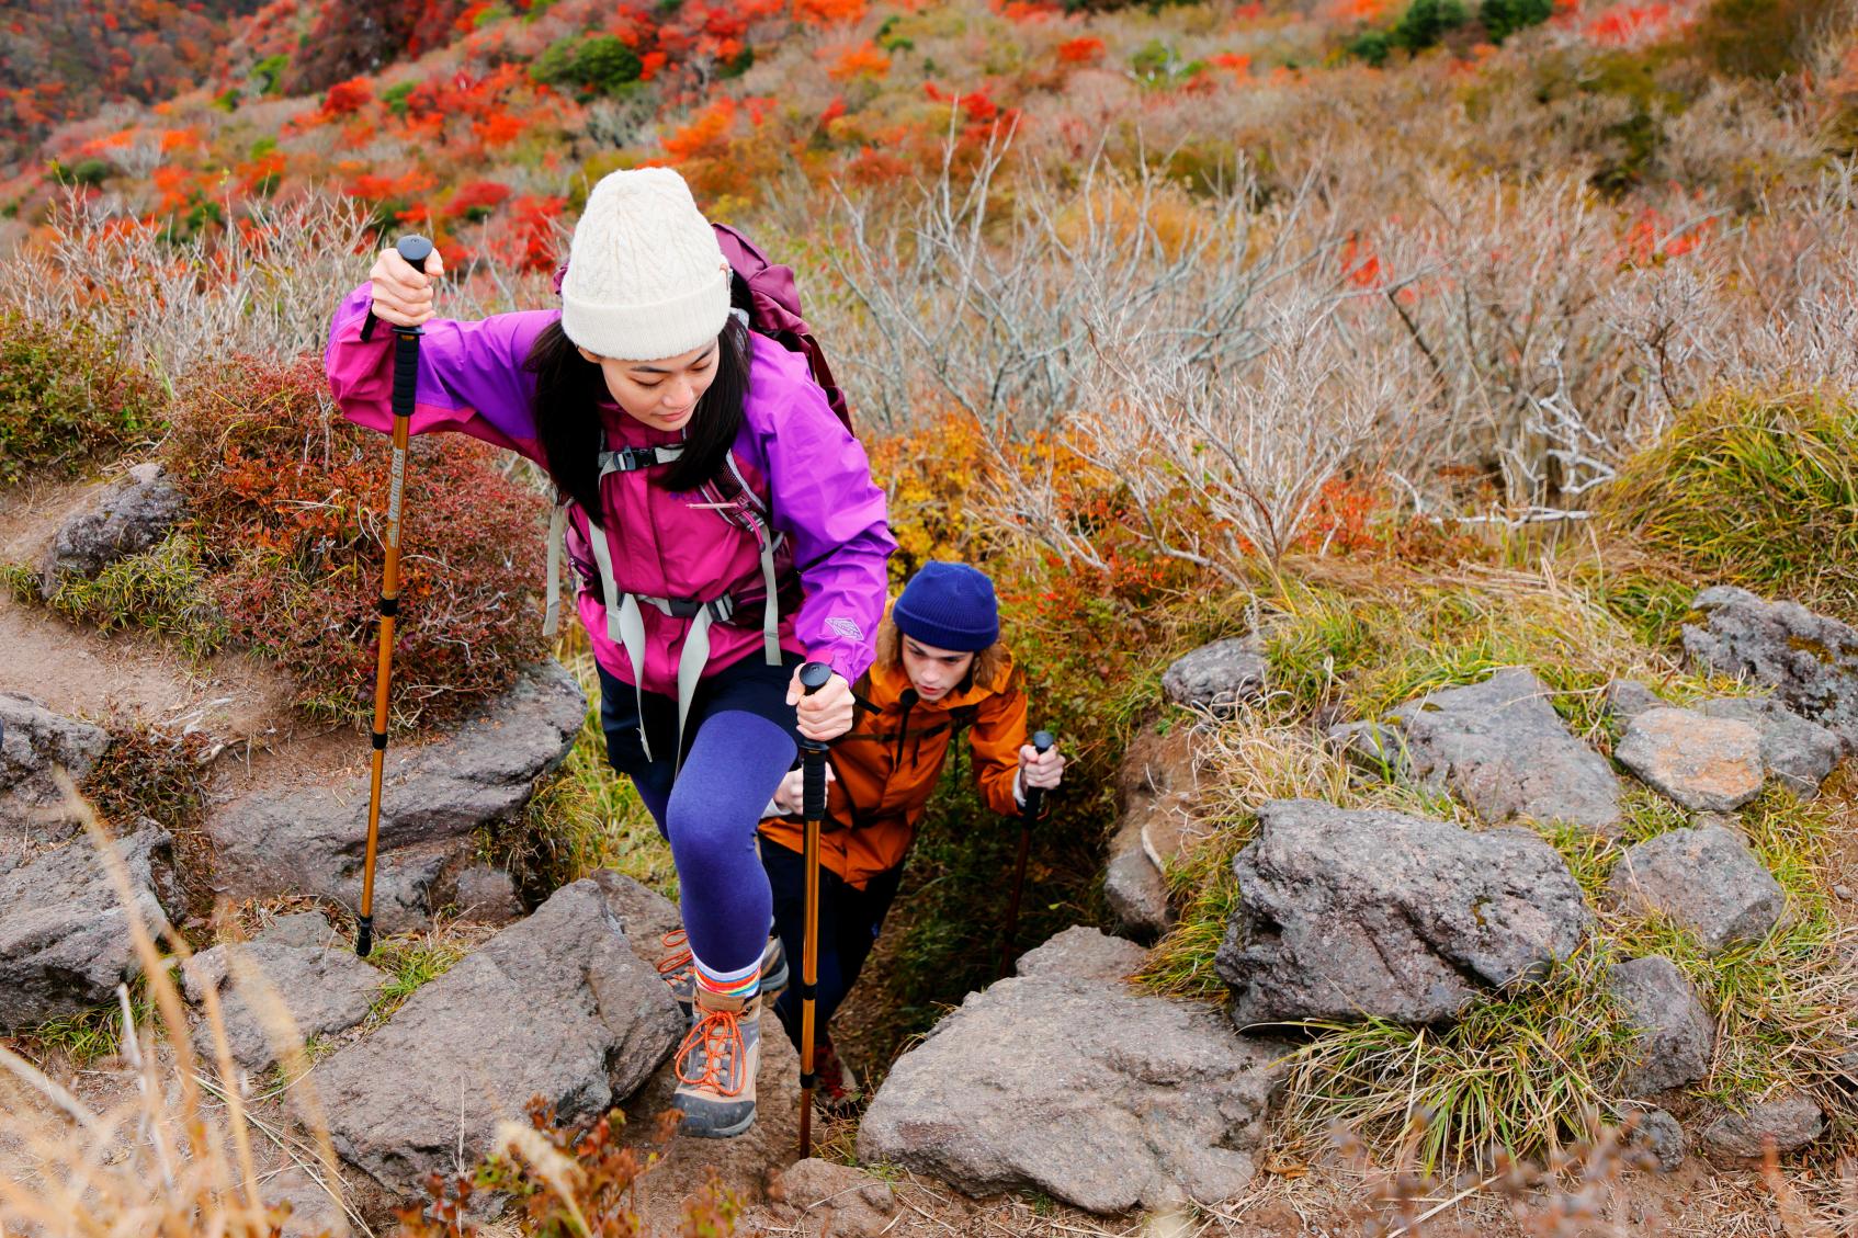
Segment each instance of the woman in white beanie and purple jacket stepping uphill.
[[[424,271],[375,258],[336,309],[331,389],[344,416],[388,429],[394,336],[372,320],[424,325],[412,433],[518,452],[567,500],[608,760],[682,889],[695,974],[674,1106],[686,1134],[741,1134],[773,922],[756,823],[799,736],[851,727],[896,545],[884,494],[806,361],[732,310],[745,288],[671,169],[595,186],[559,310],[437,318],[438,275],[437,253]],[[814,695],[806,660],[832,667]]]

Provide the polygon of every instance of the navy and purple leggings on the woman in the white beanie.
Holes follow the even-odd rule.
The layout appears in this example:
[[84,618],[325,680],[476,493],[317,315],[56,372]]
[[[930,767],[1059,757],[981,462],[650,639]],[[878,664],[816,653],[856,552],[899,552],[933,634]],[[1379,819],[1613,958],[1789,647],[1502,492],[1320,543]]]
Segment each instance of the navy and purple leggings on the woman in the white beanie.
[[686,723],[689,755],[674,783],[678,703],[645,693],[645,725],[658,757],[647,760],[632,684],[600,669],[608,762],[639,788],[658,833],[671,842],[684,931],[702,970],[715,978],[754,967],[767,944],[773,896],[754,831],[799,753],[786,703],[799,658],[790,658],[779,667],[743,658],[702,680]]

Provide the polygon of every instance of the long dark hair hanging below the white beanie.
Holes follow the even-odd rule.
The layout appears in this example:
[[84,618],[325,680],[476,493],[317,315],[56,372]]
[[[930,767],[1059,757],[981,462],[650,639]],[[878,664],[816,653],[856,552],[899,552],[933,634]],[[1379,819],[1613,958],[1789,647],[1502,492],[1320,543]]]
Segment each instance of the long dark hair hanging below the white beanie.
[[[739,284],[741,277],[734,277]],[[745,292],[745,290],[743,290]],[[732,297],[736,299],[736,297]],[[728,316],[717,340],[715,379],[697,402],[686,428],[684,455],[660,478],[667,491],[695,491],[723,468],[723,457],[741,431],[741,405],[749,398],[749,325]],[[561,331],[561,320],[543,327],[522,362],[535,374],[535,431],[556,489],[600,517],[598,402],[609,400],[600,366],[580,355]]]

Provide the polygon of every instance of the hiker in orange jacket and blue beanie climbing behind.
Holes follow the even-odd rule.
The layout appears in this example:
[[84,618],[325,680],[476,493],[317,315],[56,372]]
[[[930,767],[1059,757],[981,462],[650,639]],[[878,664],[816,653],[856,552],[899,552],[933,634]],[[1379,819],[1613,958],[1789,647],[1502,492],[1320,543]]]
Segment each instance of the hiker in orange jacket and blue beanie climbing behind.
[[[819,987],[814,1050],[827,1110],[858,1097],[849,1067],[823,1034],[858,980],[903,861],[916,840],[953,738],[968,727],[981,799],[1018,814],[1027,786],[1065,775],[1055,747],[1026,742],[1026,688],[1000,643],[994,582],[966,563],[931,561],[910,578],[877,628],[877,660],[858,682],[851,734],[829,755],[827,816],[819,835]],[[801,957],[805,868],[801,773],[780,781],[762,822],[762,864],[775,889],[775,922],[790,959]],[[775,1015],[799,1045],[801,1004],[788,989]]]

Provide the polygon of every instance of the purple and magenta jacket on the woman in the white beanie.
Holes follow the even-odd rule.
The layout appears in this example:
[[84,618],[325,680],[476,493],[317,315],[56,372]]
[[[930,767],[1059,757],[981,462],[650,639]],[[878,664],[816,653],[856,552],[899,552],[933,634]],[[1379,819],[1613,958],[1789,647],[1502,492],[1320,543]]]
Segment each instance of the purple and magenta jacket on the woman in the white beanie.
[[[336,309],[325,364],[342,415],[357,426],[392,429],[394,333],[375,329],[362,342],[370,316],[362,284]],[[412,433],[455,429],[543,463],[535,431],[535,375],[522,368],[535,336],[559,310],[494,314],[478,322],[433,318],[420,340],[418,398]],[[857,682],[875,654],[884,612],[884,561],[896,548],[884,519],[884,493],[871,481],[864,448],[845,429],[814,381],[805,357],[751,331],[752,364],[734,459],[751,493],[769,507],[769,524],[786,533],[782,567],[799,574],[801,604],[780,615],[780,647],[829,664]],[[600,402],[606,446],[665,446],[682,441]],[[650,474],[613,472],[602,480],[600,533],[608,537],[615,584],[624,593],[713,600],[725,593],[758,599],[760,545],[749,530],[697,506],[697,493],[673,494]],[[589,547],[587,515],[569,507],[570,548]],[[576,541],[578,539],[578,541]],[[792,560],[788,558],[792,556]],[[606,604],[591,565],[580,571],[576,610],[598,664],[632,684],[632,662],[608,638]],[[678,651],[691,621],[645,608],[647,691],[676,697]],[[710,634],[713,675],[762,651],[760,625],[717,625]]]

